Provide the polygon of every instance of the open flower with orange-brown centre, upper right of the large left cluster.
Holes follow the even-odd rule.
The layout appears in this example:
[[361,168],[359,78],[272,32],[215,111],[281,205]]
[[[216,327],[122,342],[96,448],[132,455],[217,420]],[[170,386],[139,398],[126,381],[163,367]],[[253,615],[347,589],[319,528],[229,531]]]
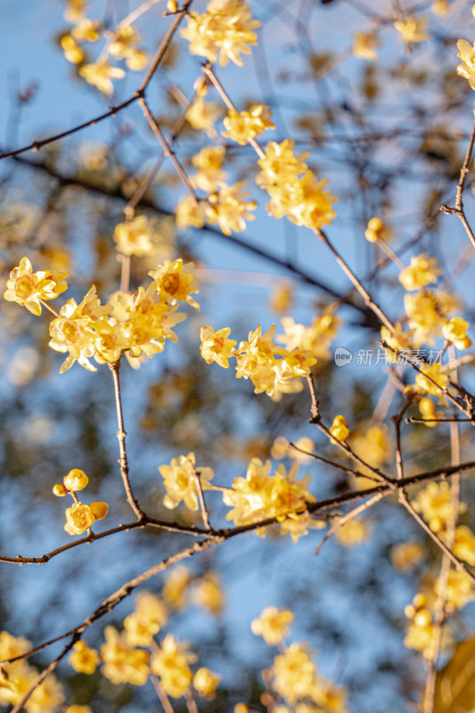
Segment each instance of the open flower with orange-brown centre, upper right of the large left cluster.
[[187,302],[195,309],[200,309],[198,302],[191,296],[199,291],[200,285],[199,278],[192,272],[193,268],[194,263],[184,263],[182,258],[178,258],[173,262],[165,260],[164,265],[152,270],[149,275],[153,279],[160,300],[171,306],[176,305],[177,302]]

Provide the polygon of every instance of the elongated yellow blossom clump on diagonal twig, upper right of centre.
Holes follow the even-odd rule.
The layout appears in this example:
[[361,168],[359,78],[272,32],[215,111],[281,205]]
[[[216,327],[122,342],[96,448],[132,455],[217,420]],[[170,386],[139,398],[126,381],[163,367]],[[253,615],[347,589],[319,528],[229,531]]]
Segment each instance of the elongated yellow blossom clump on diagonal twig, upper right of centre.
[[257,183],[271,197],[267,212],[276,218],[286,216],[292,223],[313,230],[330,225],[336,216],[332,204],[337,199],[325,191],[328,181],[317,180],[308,170],[307,153],[295,156],[293,149],[290,139],[270,142],[265,157],[258,160],[261,171]]

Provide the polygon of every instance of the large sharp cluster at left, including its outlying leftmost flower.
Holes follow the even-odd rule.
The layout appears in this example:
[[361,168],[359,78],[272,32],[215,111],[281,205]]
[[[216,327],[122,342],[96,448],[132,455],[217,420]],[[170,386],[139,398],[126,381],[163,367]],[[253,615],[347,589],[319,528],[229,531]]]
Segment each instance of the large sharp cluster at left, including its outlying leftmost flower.
[[[127,225],[127,224],[125,224]],[[198,292],[199,280],[192,273],[193,264],[181,258],[152,270],[152,282],[134,294],[114,292],[106,305],[101,304],[95,287],[77,304],[69,299],[59,316],[50,324],[49,346],[68,353],[61,373],[78,361],[89,371],[95,371],[89,359],[98,364],[113,364],[125,354],[132,365],[141,356],[152,357],[163,351],[166,340],[177,341],[174,327],[185,319],[177,313],[180,302],[199,309],[192,294]],[[62,275],[32,273],[28,258],[12,271],[5,299],[19,302],[34,314],[40,314],[40,300],[53,299],[66,287],[60,285]]]

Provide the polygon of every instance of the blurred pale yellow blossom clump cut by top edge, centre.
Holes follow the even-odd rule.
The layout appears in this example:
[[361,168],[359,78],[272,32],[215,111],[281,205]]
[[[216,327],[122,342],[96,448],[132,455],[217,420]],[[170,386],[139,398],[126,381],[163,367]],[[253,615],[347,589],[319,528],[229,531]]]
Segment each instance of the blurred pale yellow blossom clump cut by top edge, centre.
[[242,0],[211,0],[202,15],[190,13],[181,35],[190,42],[190,52],[206,57],[211,63],[219,58],[224,67],[229,60],[242,67],[241,53],[250,54],[249,45],[257,45],[260,22],[252,20],[248,5]]

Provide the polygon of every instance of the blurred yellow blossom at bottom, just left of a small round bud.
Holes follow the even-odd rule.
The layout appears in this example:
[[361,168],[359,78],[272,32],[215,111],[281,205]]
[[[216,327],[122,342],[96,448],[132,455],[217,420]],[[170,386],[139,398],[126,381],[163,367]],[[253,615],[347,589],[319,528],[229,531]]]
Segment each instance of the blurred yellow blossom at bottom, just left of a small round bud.
[[165,693],[180,698],[192,684],[192,671],[188,666],[195,656],[187,652],[186,643],[178,643],[176,637],[168,634],[163,639],[151,661],[152,673],[160,676],[160,684]]

